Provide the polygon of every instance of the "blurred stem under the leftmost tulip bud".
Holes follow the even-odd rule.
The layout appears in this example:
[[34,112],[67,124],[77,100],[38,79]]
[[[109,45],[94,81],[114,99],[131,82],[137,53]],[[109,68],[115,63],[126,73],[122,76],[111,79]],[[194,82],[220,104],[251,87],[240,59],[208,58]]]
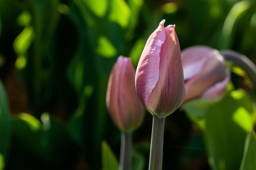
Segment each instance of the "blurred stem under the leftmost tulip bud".
[[122,132],[119,170],[131,170],[132,133]]

